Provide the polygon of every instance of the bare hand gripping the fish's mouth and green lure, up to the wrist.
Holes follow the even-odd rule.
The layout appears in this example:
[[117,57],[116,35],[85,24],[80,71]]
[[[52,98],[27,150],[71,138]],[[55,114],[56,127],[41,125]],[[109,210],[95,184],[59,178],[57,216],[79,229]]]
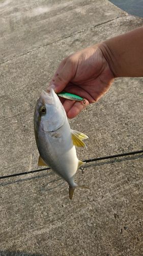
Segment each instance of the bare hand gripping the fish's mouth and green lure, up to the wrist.
[[[86,105],[98,101],[110,88],[114,75],[102,53],[95,45],[65,58],[56,70],[48,87],[56,93],[66,91],[85,99]],[[68,118],[73,118],[84,108],[82,101],[61,99]]]

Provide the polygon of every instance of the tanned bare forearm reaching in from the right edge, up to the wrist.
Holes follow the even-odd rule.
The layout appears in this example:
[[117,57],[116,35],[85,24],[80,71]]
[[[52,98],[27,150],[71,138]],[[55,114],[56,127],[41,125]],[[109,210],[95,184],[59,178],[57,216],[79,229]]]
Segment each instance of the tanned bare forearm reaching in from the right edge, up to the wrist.
[[99,47],[115,77],[143,77],[143,27],[110,38]]

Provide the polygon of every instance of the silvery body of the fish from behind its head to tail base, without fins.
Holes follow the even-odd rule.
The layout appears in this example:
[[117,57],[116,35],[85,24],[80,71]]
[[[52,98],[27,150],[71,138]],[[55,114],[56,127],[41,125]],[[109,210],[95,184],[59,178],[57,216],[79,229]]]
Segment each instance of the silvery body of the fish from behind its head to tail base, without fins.
[[45,163],[71,186],[74,183],[78,159],[69,124],[58,131],[39,136],[39,153]]

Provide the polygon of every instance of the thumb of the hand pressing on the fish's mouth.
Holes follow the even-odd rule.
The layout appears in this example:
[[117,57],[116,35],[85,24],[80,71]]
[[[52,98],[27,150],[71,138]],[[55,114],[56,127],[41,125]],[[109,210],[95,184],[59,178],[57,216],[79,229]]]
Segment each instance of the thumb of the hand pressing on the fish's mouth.
[[59,93],[64,90],[73,77],[73,65],[70,60],[67,60],[65,63],[61,62],[58,70],[56,70],[52,80],[50,81],[47,90],[50,91],[52,88],[55,93]]

